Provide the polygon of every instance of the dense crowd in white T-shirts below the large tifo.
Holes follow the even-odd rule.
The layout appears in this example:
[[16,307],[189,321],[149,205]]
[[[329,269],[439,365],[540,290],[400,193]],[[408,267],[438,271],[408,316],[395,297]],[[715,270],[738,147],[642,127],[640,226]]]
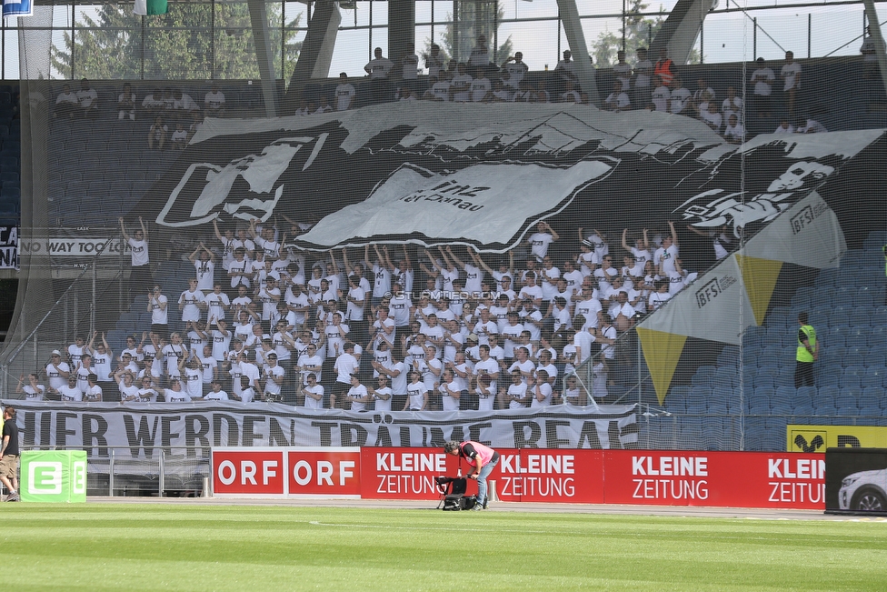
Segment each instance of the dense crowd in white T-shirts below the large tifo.
[[[121,225],[151,330],[118,352],[105,333],[78,337],[22,376],[26,398],[354,411],[589,405],[632,364],[617,337],[694,278],[671,223],[653,236],[625,229],[618,255],[597,230],[560,236],[540,223],[501,256],[367,246],[308,260],[284,244],[311,225],[274,218],[215,226],[188,256],[187,285],[162,286],[147,228]],[[590,356],[592,384],[567,376]]]

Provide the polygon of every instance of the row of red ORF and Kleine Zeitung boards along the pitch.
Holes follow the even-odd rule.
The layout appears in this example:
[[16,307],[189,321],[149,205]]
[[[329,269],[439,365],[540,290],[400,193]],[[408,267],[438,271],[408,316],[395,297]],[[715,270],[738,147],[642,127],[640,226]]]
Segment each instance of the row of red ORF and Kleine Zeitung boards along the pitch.
[[[822,455],[498,448],[489,479],[506,502],[824,509]],[[435,477],[463,475],[429,448],[216,448],[219,497],[440,497]],[[476,484],[469,481],[469,494]]]

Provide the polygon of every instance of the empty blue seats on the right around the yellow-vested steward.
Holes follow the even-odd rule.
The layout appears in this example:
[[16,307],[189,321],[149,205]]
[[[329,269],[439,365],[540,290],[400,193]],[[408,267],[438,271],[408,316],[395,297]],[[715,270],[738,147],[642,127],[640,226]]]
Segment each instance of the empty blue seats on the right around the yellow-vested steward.
[[[696,404],[694,396],[710,394],[704,390],[707,387],[695,385],[709,382],[712,376],[737,376],[736,367],[742,362],[744,385],[722,384],[710,398],[742,400],[747,449],[781,449],[786,424],[887,426],[884,239],[882,232],[870,234],[862,249],[847,251],[839,268],[824,269],[813,286],[799,288],[791,306],[773,306],[763,326],[748,330],[742,349],[726,346],[716,366],[699,366],[692,377],[693,387],[673,386],[664,409],[679,418],[729,418],[733,414],[725,405],[703,409]],[[796,319],[804,310],[812,311],[811,324],[819,330],[822,364],[817,368],[816,386],[795,388]],[[655,429],[651,422],[651,435]]]

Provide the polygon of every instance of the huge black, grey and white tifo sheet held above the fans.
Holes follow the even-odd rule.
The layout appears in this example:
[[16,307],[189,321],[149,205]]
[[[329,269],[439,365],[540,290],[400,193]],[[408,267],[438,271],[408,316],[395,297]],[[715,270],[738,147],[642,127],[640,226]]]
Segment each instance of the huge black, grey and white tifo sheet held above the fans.
[[287,236],[305,249],[503,252],[541,220],[638,226],[637,196],[655,196],[643,220],[751,236],[882,135],[759,135],[737,146],[690,118],[584,105],[420,102],[209,120],[136,210],[169,227],[308,212],[317,224]]

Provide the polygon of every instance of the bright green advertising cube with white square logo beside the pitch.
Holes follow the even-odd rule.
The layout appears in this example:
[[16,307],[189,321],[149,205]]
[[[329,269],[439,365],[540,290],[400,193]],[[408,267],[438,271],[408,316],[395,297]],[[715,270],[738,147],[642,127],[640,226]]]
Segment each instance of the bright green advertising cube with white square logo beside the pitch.
[[84,450],[26,450],[21,465],[23,502],[86,501]]

